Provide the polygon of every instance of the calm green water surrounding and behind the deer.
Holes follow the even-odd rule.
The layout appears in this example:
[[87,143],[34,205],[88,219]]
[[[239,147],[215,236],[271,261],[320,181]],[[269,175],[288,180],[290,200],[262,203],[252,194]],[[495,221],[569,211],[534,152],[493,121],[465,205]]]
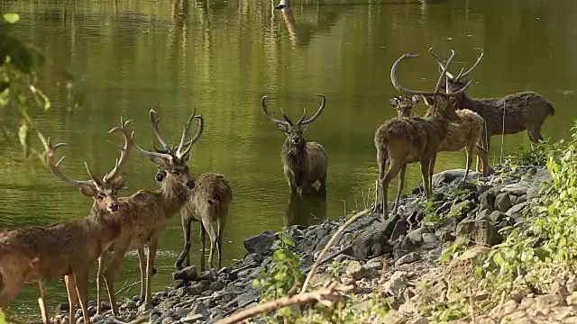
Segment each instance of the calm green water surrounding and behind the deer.
[[[561,0],[298,1],[292,13],[272,10],[270,1],[58,1],[4,0],[2,12],[21,14],[16,33],[50,56],[56,67],[69,67],[86,91],[81,111],[69,112],[52,90],[54,73],[42,83],[55,107],[39,116],[41,130],[66,141],[65,172],[86,177],[83,161],[94,172],[108,171],[118,156],[105,134],[120,119],[132,118],[136,140],[150,143],[148,111],[157,108],[160,128],[171,142],[179,139],[192,107],[205,115],[202,139],[192,150],[193,175],[227,175],[234,200],[224,232],[224,265],[243,257],[243,238],[289,223],[314,224],[343,214],[343,206],[362,208],[362,192],[377,177],[374,131],[396,115],[388,100],[397,94],[389,81],[392,62],[405,52],[422,53],[399,71],[402,83],[432,89],[436,79],[434,47],[447,56],[457,51],[454,71],[472,64],[475,47],[485,49],[472,73],[469,94],[499,96],[533,90],[556,108],[545,121],[545,138],[568,134],[577,117],[576,2]],[[262,113],[260,99],[270,94],[270,110],[282,107],[299,116],[318,107],[315,93],[326,95],[325,112],[307,130],[307,139],[322,143],[329,155],[326,202],[289,203],[282,175],[280,147],[284,135]],[[421,108],[418,113],[423,113]],[[15,129],[18,116],[3,112],[0,123]],[[527,145],[525,133],[504,139],[505,155]],[[38,144],[38,143],[37,143]],[[490,161],[498,162],[499,137],[493,137]],[[19,157],[17,140],[3,142],[4,157]],[[464,152],[442,153],[437,171],[463,167]],[[0,228],[17,228],[70,220],[87,214],[90,199],[59,183],[41,166],[0,158]],[[129,189],[156,188],[155,168],[133,152],[126,167]],[[418,166],[409,166],[407,188],[420,181]],[[390,194],[396,190],[396,181]],[[292,206],[292,207],[291,207]],[[311,216],[314,214],[315,216]],[[197,251],[194,231],[193,260]],[[179,217],[162,232],[156,258],[160,291],[170,283],[173,262],[182,246]],[[130,254],[117,287],[138,276]],[[49,283],[50,311],[66,302],[61,280]],[[96,294],[91,285],[91,295]],[[136,294],[133,289],[127,295]],[[120,298],[122,301],[123,296]],[[14,317],[39,318],[36,284],[29,284],[8,309]],[[28,315],[32,314],[32,315]]]

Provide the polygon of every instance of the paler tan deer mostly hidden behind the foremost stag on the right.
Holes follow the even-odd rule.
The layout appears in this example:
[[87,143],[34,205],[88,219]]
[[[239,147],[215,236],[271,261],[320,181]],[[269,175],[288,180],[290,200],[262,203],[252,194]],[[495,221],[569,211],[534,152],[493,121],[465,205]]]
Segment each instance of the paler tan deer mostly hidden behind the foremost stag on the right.
[[[410,117],[412,110],[417,106],[418,97],[412,96],[408,98],[393,97],[389,100],[391,107],[398,112],[398,117]],[[479,144],[481,139],[481,132],[483,130],[484,121],[480,115],[468,109],[456,111],[460,117],[460,121],[451,121],[447,127],[447,134],[443,141],[437,148],[437,152],[456,152],[463,148],[467,152],[467,163],[465,164],[465,175],[463,181],[467,179],[469,170],[472,164],[473,152],[477,157],[481,157],[483,162],[483,176],[487,176],[489,172],[489,161],[487,159],[487,151]],[[475,149],[476,148],[476,149]],[[473,150],[474,149],[474,150]],[[429,170],[433,175],[435,170]]]

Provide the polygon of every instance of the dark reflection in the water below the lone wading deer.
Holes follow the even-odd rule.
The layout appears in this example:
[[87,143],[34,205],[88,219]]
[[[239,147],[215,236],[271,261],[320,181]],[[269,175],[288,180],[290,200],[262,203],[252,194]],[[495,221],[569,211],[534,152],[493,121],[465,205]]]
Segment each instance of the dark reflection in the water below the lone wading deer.
[[291,193],[284,225],[315,225],[326,219],[326,189]]

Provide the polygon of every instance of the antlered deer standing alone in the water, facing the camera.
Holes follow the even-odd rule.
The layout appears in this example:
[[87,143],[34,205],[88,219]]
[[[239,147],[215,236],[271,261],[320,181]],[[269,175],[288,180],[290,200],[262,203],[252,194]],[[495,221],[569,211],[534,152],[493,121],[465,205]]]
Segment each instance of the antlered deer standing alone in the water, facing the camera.
[[310,191],[314,189],[313,184],[315,184],[316,181],[319,182],[322,190],[325,189],[326,167],[328,162],[325,148],[316,142],[307,142],[303,137],[305,130],[307,130],[307,124],[315,121],[325,109],[325,95],[316,95],[323,99],[318,111],[311,118],[305,120],[305,114],[307,112],[303,109],[303,115],[296,124],[290,121],[287,114],[282,112],[282,109],[280,112],[285,120],[281,121],[276,119],[267,109],[269,96],[265,95],[261,99],[264,113],[269,117],[270,121],[275,122],[279,126],[279,130],[284,131],[287,135],[280,157],[282,159],[285,177],[289,182],[290,193],[297,193],[298,188],[300,188],[301,191]]

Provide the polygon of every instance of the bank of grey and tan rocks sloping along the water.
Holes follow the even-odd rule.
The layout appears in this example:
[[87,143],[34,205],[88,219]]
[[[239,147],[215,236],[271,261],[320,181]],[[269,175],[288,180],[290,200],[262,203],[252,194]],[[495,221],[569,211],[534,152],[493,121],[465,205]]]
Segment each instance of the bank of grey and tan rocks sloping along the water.
[[[518,166],[514,173],[497,169],[486,178],[471,173],[464,182],[463,172],[448,170],[435,175],[435,196],[429,202],[417,188],[402,198],[394,217],[383,220],[380,214],[370,214],[354,222],[331,247],[327,256],[335,257],[316,271],[312,286],[332,280],[354,283],[358,289],[353,308],[364,311],[370,310],[375,294],[382,297],[389,311],[366,311],[361,322],[435,322],[427,307],[447,301],[452,285],[474,274],[475,257],[501,242],[508,232],[501,234],[499,229],[531,217],[527,206],[539,195],[540,184],[550,180],[545,166]],[[305,273],[344,221],[341,217],[288,229],[287,238],[295,243],[291,249],[301,256],[300,268]],[[260,296],[253,279],[270,263],[277,239],[272,232],[246,238],[247,255],[232,267],[198,274],[197,268],[190,266],[174,273],[174,282],[154,294],[154,309],[144,314],[137,313],[140,301],[135,296],[122,302],[120,317],[97,316],[93,321],[107,324],[146,317],[162,324],[214,323],[252,307]],[[451,255],[451,248],[463,245],[470,248],[451,262],[441,262]],[[577,282],[563,284],[560,292],[551,295],[504,296],[498,309],[476,322],[505,322],[509,314],[512,322],[577,323],[577,293],[573,292],[577,292]],[[471,298],[483,299],[487,294]],[[95,309],[94,305],[90,308]],[[471,321],[471,316],[462,320]]]

